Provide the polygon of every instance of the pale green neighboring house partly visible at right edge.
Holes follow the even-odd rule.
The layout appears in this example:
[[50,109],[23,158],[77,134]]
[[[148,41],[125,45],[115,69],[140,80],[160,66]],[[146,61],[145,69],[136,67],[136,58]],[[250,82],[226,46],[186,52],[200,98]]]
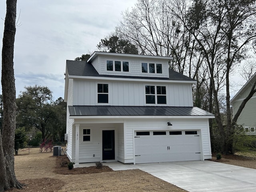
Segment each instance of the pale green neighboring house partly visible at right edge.
[[[230,105],[233,106],[233,115],[236,114],[242,101],[248,96],[252,85],[256,81],[256,73],[244,84],[244,86],[238,91],[238,93],[230,101]],[[246,134],[256,135],[256,94],[252,96],[244,106],[240,116],[237,119],[236,124],[242,125]]]

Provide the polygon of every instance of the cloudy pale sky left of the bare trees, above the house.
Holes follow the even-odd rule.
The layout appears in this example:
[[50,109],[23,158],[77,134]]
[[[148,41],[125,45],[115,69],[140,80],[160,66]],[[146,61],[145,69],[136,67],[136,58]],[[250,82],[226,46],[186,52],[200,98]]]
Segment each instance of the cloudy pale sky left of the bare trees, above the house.
[[[64,98],[66,60],[95,51],[136,0],[18,0],[14,44],[16,96],[24,86],[47,86]],[[0,1],[0,47],[6,1]],[[2,58],[0,58],[1,60]],[[1,88],[1,87],[0,87]],[[2,88],[0,89],[2,94]]]

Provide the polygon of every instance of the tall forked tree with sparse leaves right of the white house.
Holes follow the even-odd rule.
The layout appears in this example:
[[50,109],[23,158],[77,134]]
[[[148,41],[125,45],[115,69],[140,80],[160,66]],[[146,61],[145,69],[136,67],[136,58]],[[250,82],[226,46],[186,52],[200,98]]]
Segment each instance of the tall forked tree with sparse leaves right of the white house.
[[[177,0],[179,1],[179,0]],[[229,76],[241,60],[247,57],[247,51],[256,40],[256,5],[255,1],[244,0],[194,0],[188,12],[179,8],[177,17],[194,36],[200,45],[208,64],[210,80],[215,103],[215,115],[222,135],[223,152],[232,152],[232,133],[236,118],[231,120]],[[173,10],[172,8],[170,8]],[[177,8],[178,9],[178,8]],[[176,9],[176,10],[177,10]],[[181,14],[186,14],[186,22]],[[223,76],[225,74],[225,76]],[[226,87],[226,124],[221,118],[218,88],[216,80],[225,77]],[[219,84],[219,83],[217,83]],[[249,97],[252,96],[252,89]],[[246,102],[246,100],[244,101]],[[236,116],[242,111],[238,110]]]

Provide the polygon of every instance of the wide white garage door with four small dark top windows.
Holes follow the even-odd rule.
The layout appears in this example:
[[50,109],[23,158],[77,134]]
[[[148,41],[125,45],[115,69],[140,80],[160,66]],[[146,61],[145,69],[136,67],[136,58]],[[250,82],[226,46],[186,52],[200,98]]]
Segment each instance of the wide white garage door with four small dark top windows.
[[197,130],[136,131],[135,163],[201,160]]

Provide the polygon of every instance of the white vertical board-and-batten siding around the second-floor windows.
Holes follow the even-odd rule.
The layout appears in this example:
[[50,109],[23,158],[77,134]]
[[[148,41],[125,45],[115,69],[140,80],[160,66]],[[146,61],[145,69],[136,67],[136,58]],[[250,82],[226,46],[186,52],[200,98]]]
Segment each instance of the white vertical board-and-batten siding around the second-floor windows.
[[163,106],[193,106],[191,84],[94,81],[74,79],[73,105],[102,105],[97,103],[97,84],[108,84],[107,105],[145,106],[145,86],[166,86],[167,104]]

